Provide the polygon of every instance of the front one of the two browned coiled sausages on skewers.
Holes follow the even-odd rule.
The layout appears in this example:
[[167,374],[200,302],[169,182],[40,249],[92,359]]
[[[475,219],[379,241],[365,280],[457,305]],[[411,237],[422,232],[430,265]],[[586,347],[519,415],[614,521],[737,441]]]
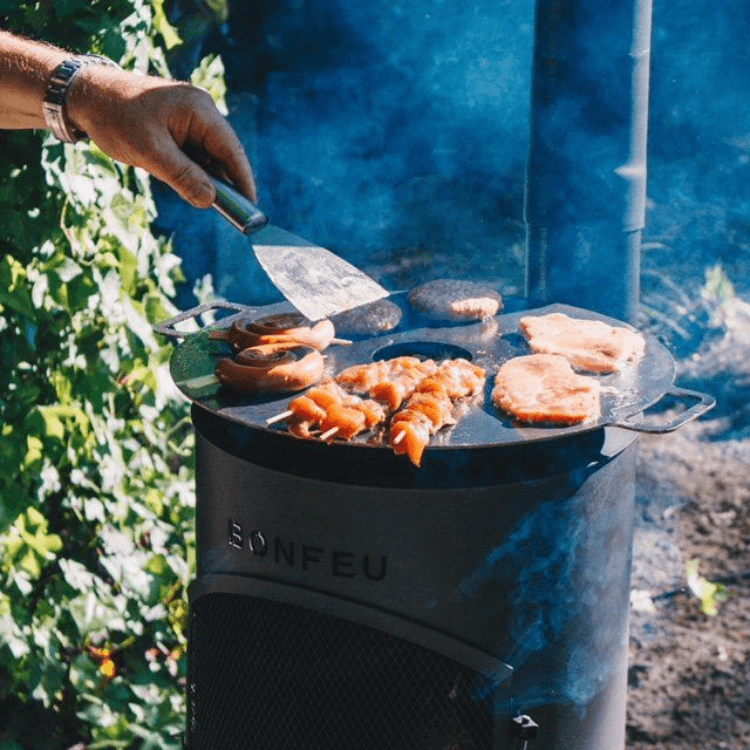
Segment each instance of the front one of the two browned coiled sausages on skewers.
[[240,393],[301,391],[319,382],[325,371],[323,355],[310,346],[267,344],[241,351],[236,360],[216,366],[223,385]]

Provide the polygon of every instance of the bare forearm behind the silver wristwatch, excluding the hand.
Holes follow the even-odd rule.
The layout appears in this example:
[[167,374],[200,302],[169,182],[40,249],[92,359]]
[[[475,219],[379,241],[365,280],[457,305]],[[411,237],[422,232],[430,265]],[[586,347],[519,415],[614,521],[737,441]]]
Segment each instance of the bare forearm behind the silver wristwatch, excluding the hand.
[[69,53],[0,31],[0,129],[44,128],[42,100]]

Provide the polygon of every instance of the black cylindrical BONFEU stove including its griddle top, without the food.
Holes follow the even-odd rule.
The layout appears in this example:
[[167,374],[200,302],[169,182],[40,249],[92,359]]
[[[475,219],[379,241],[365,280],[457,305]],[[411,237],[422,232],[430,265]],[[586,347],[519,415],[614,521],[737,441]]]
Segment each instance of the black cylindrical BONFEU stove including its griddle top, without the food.
[[[617,321],[555,305],[435,328],[394,300],[401,325],[327,350],[332,373],[404,354],[488,373],[419,468],[268,427],[289,397],[206,384],[227,351],[208,329],[175,350],[198,434],[188,750],[622,750],[635,430],[711,400],[674,388],[649,339],[637,371],[604,378],[598,423],[520,427],[488,396],[525,353],[521,315]],[[645,424],[665,393],[698,403]]]

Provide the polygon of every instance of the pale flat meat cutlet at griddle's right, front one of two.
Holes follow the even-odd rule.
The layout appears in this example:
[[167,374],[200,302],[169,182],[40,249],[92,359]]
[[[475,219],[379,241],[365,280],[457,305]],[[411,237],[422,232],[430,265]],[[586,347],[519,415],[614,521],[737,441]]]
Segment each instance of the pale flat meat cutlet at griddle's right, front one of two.
[[573,425],[599,417],[601,387],[559,354],[529,354],[503,364],[492,403],[521,422]]

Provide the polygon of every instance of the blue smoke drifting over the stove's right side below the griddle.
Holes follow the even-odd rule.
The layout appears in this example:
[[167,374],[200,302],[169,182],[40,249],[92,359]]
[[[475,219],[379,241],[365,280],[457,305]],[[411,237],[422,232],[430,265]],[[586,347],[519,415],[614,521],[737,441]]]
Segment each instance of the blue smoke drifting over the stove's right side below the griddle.
[[[498,714],[548,704],[586,706],[612,677],[627,640],[628,539],[617,503],[592,514],[589,501],[541,503],[524,516],[460,586],[495,591],[509,619],[496,653],[514,669],[509,690],[482,682]],[[619,519],[619,520],[618,520]]]

